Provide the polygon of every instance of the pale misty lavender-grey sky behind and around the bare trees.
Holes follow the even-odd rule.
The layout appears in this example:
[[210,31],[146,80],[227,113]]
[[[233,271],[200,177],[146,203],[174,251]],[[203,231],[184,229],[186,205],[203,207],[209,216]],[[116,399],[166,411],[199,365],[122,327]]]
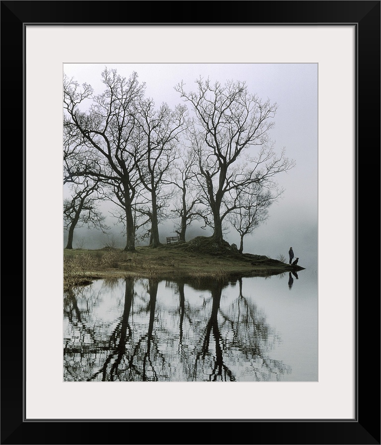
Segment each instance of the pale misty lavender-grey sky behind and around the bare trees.
[[[96,93],[104,90],[101,73],[107,66],[128,77],[133,71],[139,82],[146,83],[146,96],[152,97],[159,106],[162,102],[175,107],[182,102],[174,87],[182,80],[185,90],[195,90],[194,81],[201,75],[222,84],[226,80],[246,81],[250,93],[259,98],[276,102],[278,110],[270,138],[275,142],[275,151],[282,148],[286,156],[296,162],[288,172],[277,175],[280,187],[285,189],[278,203],[269,208],[269,218],[244,239],[244,252],[287,257],[290,246],[300,257],[303,267],[317,267],[318,255],[318,64],[64,64],[64,73],[74,77],[80,84],[89,83]],[[64,197],[67,189],[64,188]],[[115,208],[111,204],[111,208]],[[107,208],[102,207],[107,214]],[[107,223],[114,227],[114,219]],[[192,229],[193,226],[193,229]],[[210,231],[198,229],[192,223],[187,230],[187,240],[196,235],[210,235]],[[159,226],[160,238],[172,236],[174,222]],[[121,227],[114,228],[120,237],[119,247],[126,239],[120,235]],[[95,229],[74,231],[76,236],[85,237],[85,248],[100,248],[106,244],[107,236]],[[64,233],[64,242],[67,233]],[[239,234],[234,228],[225,235],[230,243],[239,245]]]

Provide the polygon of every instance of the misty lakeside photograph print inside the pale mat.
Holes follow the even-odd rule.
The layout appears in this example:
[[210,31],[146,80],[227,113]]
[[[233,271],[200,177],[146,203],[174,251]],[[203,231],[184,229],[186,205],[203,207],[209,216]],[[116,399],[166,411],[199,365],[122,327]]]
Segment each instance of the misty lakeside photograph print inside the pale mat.
[[64,64],[63,98],[64,381],[318,381],[318,64]]

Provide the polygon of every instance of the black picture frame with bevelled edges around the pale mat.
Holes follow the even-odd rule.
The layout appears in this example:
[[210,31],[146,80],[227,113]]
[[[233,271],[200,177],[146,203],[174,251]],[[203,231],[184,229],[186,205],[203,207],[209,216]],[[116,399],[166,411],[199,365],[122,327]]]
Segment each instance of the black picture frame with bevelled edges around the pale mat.
[[[139,4],[141,3],[141,4]],[[148,7],[149,4],[149,7]],[[141,10],[141,14],[115,11]],[[2,205],[5,218],[12,218],[12,233],[21,241],[23,280],[15,265],[6,261],[13,283],[1,298],[1,444],[380,444],[380,298],[359,281],[359,259],[369,257],[366,247],[375,247],[379,231],[377,218],[365,212],[360,196],[372,201],[379,187],[380,167],[380,6],[381,1],[1,1],[1,142],[4,170],[17,170],[17,181],[4,177]],[[186,14],[182,11],[186,10]],[[171,10],[172,14],[169,14]],[[243,13],[244,11],[244,13]],[[171,17],[171,18],[170,18]],[[250,21],[243,21],[243,18]],[[176,20],[176,21],[174,21]],[[25,26],[39,24],[354,24],[356,26],[356,400],[353,420],[25,420]],[[373,149],[372,149],[373,147]],[[370,152],[371,151],[371,152]],[[362,156],[360,156],[362,154]],[[11,155],[11,157],[9,156]],[[19,156],[19,157],[18,157]],[[20,168],[22,157],[22,175]],[[376,165],[377,172],[371,171]],[[12,168],[13,167],[13,168]],[[9,171],[9,178],[12,174]],[[366,177],[367,175],[367,177]],[[21,176],[23,180],[21,181]],[[360,181],[363,179],[363,182]],[[377,179],[377,184],[376,184]],[[20,193],[12,184],[22,183]],[[365,192],[365,184],[368,187]],[[361,193],[363,192],[363,193]],[[334,191],[333,191],[334,193]],[[17,196],[17,197],[16,197]],[[377,195],[378,198],[378,195]],[[376,201],[380,202],[380,201]],[[12,216],[10,216],[10,214]],[[360,214],[367,214],[365,233],[359,229]],[[3,214],[4,215],[4,214]],[[3,220],[4,221],[4,220]],[[377,223],[377,227],[375,227]],[[365,224],[364,224],[365,228]],[[6,225],[5,229],[9,228]],[[17,235],[16,235],[17,233]],[[370,238],[372,236],[372,238]],[[361,244],[360,244],[361,243]],[[17,258],[21,257],[20,249]],[[379,258],[379,252],[376,252]],[[373,261],[374,254],[370,255]],[[332,259],[329,259],[332,261]],[[369,263],[368,263],[369,264]],[[13,266],[13,267],[11,267]],[[332,266],[334,273],[334,264]],[[352,271],[350,271],[352,272]],[[363,276],[364,277],[364,276]],[[369,277],[371,277],[369,279]],[[21,285],[22,282],[22,285]],[[20,283],[20,285],[18,284]],[[17,286],[14,287],[14,284]],[[362,284],[360,295],[359,284]],[[22,289],[19,289],[19,287]],[[4,286],[5,287],[5,286]],[[16,292],[13,291],[16,289]],[[368,298],[367,298],[368,297]],[[213,401],[209,401],[211,407]],[[102,424],[95,427],[94,422]],[[129,422],[126,427],[126,422]],[[166,425],[160,425],[160,423]],[[149,424],[146,425],[146,424]],[[196,423],[197,425],[194,425]],[[239,423],[239,425],[237,425]],[[204,425],[203,425],[204,424]],[[197,428],[199,426],[199,428]],[[140,439],[136,441],[136,431]],[[195,428],[196,427],[196,428]]]

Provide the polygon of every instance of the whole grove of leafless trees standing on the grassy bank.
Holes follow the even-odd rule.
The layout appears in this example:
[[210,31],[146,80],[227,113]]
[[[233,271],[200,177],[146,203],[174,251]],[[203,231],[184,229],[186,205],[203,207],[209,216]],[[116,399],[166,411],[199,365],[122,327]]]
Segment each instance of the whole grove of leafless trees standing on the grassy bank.
[[67,248],[79,222],[106,228],[97,201],[108,200],[119,209],[113,215],[124,225],[126,251],[135,250],[138,236],[159,246],[160,223],[169,220],[186,241],[197,220],[217,243],[225,230],[236,230],[242,252],[244,237],[283,193],[276,175],[295,165],[270,139],[276,103],[262,101],[245,82],[200,77],[194,91],[175,86],[173,108],[156,106],[137,73],[126,78],[106,68],[101,76],[98,93],[64,75]]

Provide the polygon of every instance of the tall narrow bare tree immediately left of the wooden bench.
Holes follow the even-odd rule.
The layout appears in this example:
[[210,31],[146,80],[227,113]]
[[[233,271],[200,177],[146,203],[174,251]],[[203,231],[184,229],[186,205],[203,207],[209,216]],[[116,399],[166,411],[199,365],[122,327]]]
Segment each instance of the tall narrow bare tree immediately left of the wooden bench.
[[159,211],[169,199],[163,186],[168,178],[171,165],[176,159],[176,146],[184,129],[187,109],[178,105],[171,110],[163,103],[158,110],[152,99],[140,101],[137,115],[135,147],[133,156],[139,178],[150,198],[150,208],[141,209],[151,221],[150,245],[157,247],[159,240]]

